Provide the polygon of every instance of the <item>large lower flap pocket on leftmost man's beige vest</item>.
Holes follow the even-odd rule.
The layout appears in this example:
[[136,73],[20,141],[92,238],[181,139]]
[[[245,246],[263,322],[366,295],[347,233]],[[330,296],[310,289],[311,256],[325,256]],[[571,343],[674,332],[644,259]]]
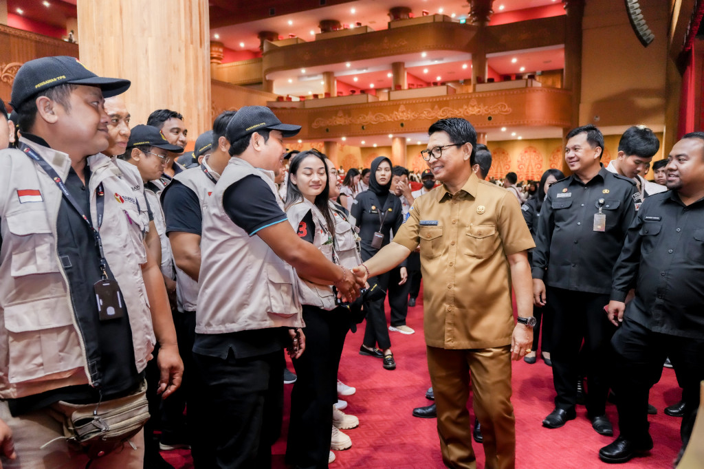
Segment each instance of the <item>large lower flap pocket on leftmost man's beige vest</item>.
[[72,311],[47,298],[5,307],[8,380],[25,382],[83,367]]

